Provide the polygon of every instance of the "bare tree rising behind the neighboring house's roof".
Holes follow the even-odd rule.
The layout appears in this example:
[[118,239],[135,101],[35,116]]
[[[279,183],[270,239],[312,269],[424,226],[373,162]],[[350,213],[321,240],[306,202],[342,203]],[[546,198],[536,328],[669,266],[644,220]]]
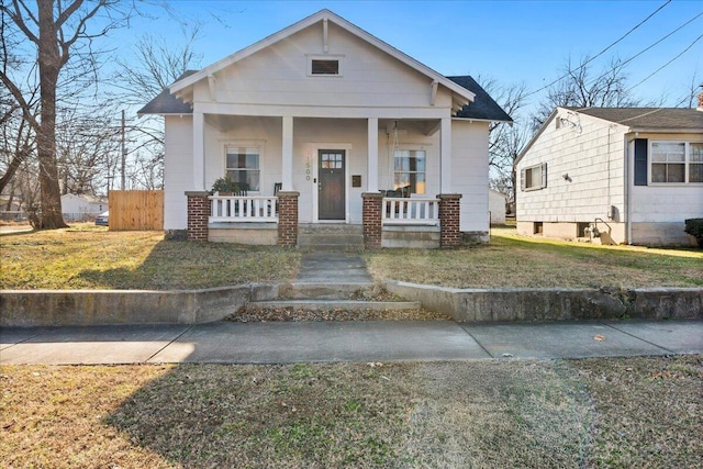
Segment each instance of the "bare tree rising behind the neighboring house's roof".
[[612,59],[603,70],[594,71],[589,56],[573,64],[569,57],[560,70],[563,77],[547,90],[547,98],[539,103],[532,116],[533,131],[547,120],[557,107],[574,108],[629,108],[639,104],[627,88],[625,65]]

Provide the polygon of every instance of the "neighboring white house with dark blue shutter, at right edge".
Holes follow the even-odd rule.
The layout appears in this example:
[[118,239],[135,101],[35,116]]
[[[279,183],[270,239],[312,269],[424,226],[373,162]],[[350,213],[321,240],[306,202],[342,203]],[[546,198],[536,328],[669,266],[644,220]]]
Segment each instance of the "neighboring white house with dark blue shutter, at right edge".
[[517,233],[695,245],[683,228],[703,217],[702,111],[557,108],[515,163]]

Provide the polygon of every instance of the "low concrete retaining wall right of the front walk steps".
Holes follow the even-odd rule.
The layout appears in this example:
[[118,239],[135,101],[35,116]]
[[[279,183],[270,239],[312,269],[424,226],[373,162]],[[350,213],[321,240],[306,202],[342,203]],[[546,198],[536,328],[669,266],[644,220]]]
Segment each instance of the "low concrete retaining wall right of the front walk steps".
[[451,289],[398,281],[388,291],[458,322],[703,319],[703,289]]

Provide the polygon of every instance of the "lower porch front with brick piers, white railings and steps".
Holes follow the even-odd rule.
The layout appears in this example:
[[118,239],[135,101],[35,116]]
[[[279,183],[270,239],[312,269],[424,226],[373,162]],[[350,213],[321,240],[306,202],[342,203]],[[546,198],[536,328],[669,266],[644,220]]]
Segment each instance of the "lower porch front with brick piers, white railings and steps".
[[[437,198],[383,197],[365,192],[362,223],[300,223],[299,192],[281,191],[276,197],[220,196],[186,192],[189,241],[230,242],[249,245],[304,246],[306,233],[330,232],[333,226],[358,226],[364,248],[438,248],[460,244],[460,194]],[[302,242],[301,242],[302,241]]]

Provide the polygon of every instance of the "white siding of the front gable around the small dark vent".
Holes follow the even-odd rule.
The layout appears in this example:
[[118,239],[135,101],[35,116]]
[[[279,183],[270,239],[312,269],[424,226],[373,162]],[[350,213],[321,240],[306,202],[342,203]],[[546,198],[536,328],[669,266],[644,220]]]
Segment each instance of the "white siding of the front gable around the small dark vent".
[[[310,55],[322,55],[322,27],[314,25],[244,58],[215,75],[217,102],[270,107],[429,107],[431,81],[400,60],[330,24],[330,58],[342,76],[309,76]],[[212,101],[207,80],[196,101]],[[449,107],[449,93],[435,107]]]

